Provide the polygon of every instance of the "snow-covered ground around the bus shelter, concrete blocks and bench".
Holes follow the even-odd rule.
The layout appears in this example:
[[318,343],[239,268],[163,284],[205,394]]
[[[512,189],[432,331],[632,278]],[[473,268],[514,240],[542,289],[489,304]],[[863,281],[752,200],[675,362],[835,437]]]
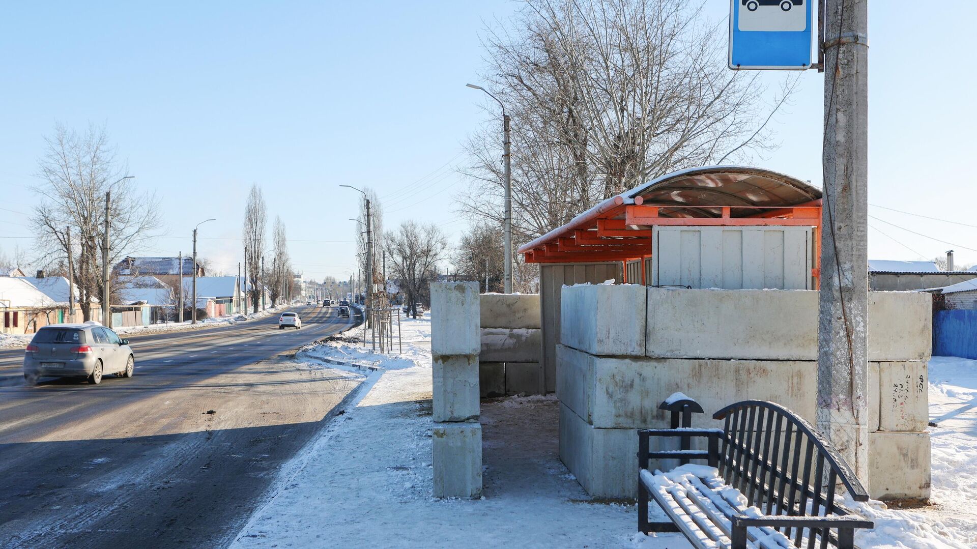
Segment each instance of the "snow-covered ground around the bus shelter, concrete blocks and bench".
[[[559,460],[552,396],[483,401],[485,497],[434,498],[430,318],[402,322],[403,355],[365,349],[360,330],[298,353],[313,367],[379,369],[283,468],[233,547],[690,547],[636,533],[633,505],[586,495]],[[858,533],[862,547],[977,547],[977,360],[936,357],[930,382],[933,505],[849,503],[876,525]]]

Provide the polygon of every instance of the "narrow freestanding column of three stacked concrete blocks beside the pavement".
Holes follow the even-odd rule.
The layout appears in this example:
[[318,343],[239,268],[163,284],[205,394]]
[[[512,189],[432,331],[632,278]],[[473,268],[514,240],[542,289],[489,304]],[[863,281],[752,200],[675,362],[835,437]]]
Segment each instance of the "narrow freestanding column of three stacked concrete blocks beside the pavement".
[[482,495],[477,282],[431,284],[435,497]]

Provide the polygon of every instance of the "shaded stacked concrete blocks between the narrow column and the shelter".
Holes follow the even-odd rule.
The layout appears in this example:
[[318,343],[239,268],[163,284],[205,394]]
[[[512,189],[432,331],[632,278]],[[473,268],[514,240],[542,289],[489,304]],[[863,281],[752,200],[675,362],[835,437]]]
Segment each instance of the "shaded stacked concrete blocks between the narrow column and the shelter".
[[482,294],[480,307],[482,396],[545,394],[539,294]]

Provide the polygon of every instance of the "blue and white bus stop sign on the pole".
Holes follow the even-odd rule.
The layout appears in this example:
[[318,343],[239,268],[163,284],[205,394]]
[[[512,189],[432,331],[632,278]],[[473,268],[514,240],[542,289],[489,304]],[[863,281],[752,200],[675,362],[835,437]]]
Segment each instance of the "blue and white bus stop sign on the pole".
[[814,0],[732,0],[730,68],[811,68]]

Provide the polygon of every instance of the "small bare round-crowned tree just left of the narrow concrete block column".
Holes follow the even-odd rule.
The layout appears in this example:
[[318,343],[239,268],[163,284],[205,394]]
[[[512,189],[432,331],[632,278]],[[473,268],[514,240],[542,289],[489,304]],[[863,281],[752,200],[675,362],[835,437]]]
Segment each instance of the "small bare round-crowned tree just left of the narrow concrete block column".
[[401,280],[407,294],[410,315],[417,317],[417,300],[426,295],[438,275],[438,262],[445,258],[447,241],[435,224],[405,221],[386,239],[391,274]]

